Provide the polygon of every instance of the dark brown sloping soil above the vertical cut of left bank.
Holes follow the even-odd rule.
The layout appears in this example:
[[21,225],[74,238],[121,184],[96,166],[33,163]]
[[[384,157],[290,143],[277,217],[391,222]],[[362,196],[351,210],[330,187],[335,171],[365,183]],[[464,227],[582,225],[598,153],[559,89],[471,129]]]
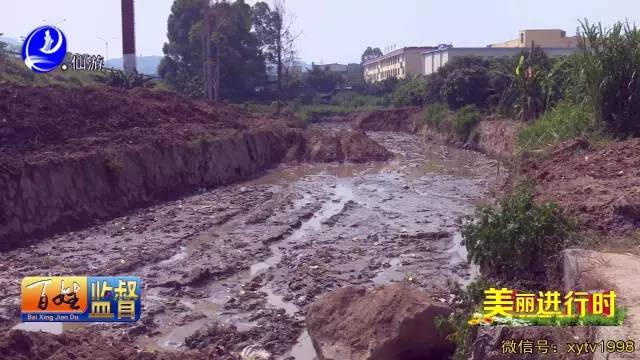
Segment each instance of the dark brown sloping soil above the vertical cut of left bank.
[[169,92],[0,86],[0,153],[90,151],[246,127],[248,115]]

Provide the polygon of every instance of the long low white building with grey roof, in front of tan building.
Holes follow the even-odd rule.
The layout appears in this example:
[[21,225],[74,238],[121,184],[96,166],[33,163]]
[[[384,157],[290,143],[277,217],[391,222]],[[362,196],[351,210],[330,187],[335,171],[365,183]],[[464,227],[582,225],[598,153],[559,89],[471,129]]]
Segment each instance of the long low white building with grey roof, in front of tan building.
[[[425,51],[422,54],[422,74],[430,75],[438,71],[438,69],[444,66],[449,61],[464,56],[476,56],[483,58],[499,58],[499,57],[511,57],[517,56],[526,48],[518,47],[479,47],[479,48],[441,48],[431,51]],[[543,47],[542,50],[549,57],[567,56],[575,53],[577,48],[566,47]]]

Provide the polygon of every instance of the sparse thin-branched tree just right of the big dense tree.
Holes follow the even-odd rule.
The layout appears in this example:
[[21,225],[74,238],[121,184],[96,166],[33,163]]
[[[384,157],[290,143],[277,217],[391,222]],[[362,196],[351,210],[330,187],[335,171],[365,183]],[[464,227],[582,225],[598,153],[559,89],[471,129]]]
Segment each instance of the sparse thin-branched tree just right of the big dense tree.
[[[287,12],[285,0],[274,0],[273,10],[265,2],[254,5],[256,35],[271,64],[276,66],[278,93],[282,93],[283,71],[289,59],[295,59],[295,40],[299,34],[292,30],[293,20]],[[295,60],[294,60],[295,61]]]

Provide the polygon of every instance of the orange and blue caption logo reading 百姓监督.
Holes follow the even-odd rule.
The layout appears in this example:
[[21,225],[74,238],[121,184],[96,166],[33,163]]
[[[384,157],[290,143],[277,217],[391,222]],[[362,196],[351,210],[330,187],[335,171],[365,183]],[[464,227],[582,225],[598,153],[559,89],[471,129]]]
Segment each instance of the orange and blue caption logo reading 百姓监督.
[[135,322],[142,280],[131,276],[37,276],[21,284],[23,322]]

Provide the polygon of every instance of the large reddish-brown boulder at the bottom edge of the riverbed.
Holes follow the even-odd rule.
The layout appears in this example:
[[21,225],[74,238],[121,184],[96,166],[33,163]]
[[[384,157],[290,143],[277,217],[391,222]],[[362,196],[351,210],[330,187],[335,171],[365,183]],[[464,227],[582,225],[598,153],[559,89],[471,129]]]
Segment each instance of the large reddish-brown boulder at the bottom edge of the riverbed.
[[348,286],[311,305],[307,328],[319,360],[445,359],[454,345],[434,320],[449,313],[409,285]]

